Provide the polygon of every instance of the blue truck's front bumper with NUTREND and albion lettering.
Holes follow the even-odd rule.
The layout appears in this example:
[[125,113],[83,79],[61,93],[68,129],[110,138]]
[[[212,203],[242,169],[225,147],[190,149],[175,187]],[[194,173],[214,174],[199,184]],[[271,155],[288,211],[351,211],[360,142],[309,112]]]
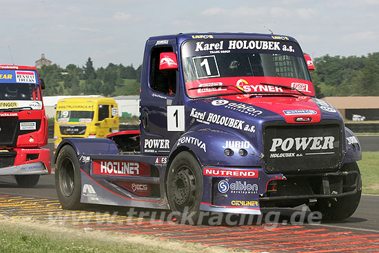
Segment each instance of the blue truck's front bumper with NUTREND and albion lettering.
[[[243,172],[253,176],[244,177]],[[317,199],[334,199],[361,190],[356,171],[266,174],[262,168],[203,168],[203,199],[208,212],[260,214],[260,208],[293,208]]]

